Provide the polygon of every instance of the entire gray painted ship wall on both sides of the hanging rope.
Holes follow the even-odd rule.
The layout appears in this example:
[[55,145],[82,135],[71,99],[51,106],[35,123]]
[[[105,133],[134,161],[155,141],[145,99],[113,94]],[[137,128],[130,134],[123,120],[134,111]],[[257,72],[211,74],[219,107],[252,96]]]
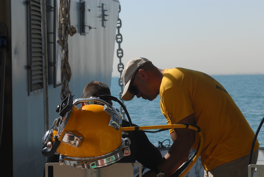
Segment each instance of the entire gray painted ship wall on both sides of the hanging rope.
[[[86,36],[80,35],[79,0],[71,1],[71,24],[77,34],[69,36],[69,63],[72,78],[69,88],[80,98],[83,88],[92,80],[99,80],[110,87],[114,44],[119,3],[113,0],[87,0],[87,24],[96,27]],[[101,26],[101,3],[106,4],[106,27]],[[27,88],[27,6],[24,0],[11,1],[11,60],[13,102],[13,176],[42,176],[45,157],[41,154],[44,135],[43,92],[28,96]],[[59,115],[55,108],[60,104],[60,87],[48,86],[49,125]]]

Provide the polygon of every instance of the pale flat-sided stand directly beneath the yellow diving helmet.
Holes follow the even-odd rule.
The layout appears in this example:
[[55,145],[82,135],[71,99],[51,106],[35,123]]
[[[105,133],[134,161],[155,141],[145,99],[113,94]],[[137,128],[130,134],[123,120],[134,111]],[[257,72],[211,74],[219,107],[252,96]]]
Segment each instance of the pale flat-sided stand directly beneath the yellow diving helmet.
[[[98,169],[82,169],[69,165],[60,165],[59,163],[47,163],[45,165],[45,177],[133,177],[134,166],[139,166],[139,177],[141,177],[140,163],[114,163],[112,165]],[[49,175],[49,172],[51,173]]]

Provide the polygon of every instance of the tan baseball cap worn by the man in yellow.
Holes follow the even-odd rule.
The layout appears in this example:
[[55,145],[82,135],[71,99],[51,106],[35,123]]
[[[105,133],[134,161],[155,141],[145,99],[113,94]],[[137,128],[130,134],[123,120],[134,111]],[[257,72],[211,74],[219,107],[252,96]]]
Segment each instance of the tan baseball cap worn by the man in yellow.
[[129,86],[130,86],[132,75],[141,65],[147,62],[151,62],[151,61],[149,61],[146,58],[134,58],[130,60],[128,64],[125,66],[122,72],[122,75],[121,75],[122,82],[125,86],[123,94],[122,94],[122,100],[130,101],[131,99],[134,98],[135,95],[129,92]]

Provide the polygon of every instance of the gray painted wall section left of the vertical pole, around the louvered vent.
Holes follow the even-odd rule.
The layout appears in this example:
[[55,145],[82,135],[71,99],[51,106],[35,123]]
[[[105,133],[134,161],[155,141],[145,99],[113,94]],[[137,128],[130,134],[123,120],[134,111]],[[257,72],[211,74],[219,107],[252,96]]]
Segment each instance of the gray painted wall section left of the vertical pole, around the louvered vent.
[[[44,162],[40,153],[43,136],[43,94],[28,96],[27,91],[27,6],[11,2],[13,176],[38,176]],[[41,161],[42,159],[42,161]],[[34,169],[34,170],[32,170]]]

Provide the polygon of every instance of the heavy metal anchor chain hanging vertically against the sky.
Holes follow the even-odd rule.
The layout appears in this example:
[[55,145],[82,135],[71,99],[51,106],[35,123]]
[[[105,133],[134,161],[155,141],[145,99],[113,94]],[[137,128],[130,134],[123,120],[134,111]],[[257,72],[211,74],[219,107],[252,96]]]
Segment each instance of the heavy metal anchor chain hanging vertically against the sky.
[[[120,44],[121,44],[121,42],[123,41],[122,35],[120,34],[120,28],[121,28],[121,26],[122,26],[122,22],[121,22],[121,20],[120,20],[120,18],[119,18],[119,13],[120,13],[120,11],[121,11],[121,6],[120,6],[120,4],[119,4],[118,20],[117,20],[117,27],[116,27],[116,28],[117,28],[116,42],[117,42],[117,44],[118,44],[118,49],[117,49],[116,53],[117,53],[117,57],[119,58],[119,64],[117,65],[117,70],[118,70],[119,73],[120,73],[120,77],[119,77],[119,79],[118,79],[118,84],[119,84],[119,86],[121,87],[121,91],[119,92],[119,99],[120,99],[120,100],[122,101],[122,103],[124,104],[124,100],[122,100],[122,93],[123,93],[123,87],[124,87],[124,84],[123,84],[122,79],[121,79],[122,71],[123,71],[123,69],[124,69],[124,64],[122,63],[121,59],[122,59],[124,53],[123,53],[123,50],[122,50],[121,47],[120,47]],[[125,104],[124,104],[124,106],[125,106]],[[125,114],[125,111],[124,111],[124,109],[122,108],[122,106],[120,106],[120,113],[121,113],[121,115],[122,115],[122,118],[123,118],[124,120],[126,120],[126,119],[125,119],[125,115],[126,115],[126,114]]]

